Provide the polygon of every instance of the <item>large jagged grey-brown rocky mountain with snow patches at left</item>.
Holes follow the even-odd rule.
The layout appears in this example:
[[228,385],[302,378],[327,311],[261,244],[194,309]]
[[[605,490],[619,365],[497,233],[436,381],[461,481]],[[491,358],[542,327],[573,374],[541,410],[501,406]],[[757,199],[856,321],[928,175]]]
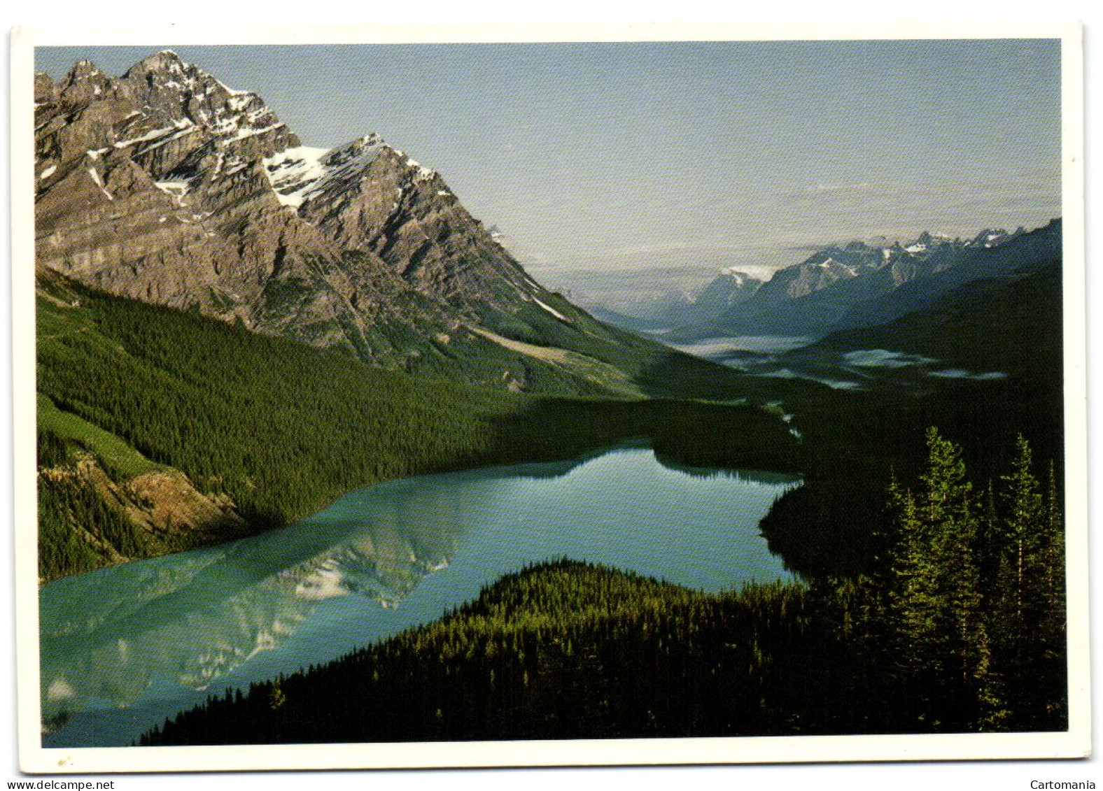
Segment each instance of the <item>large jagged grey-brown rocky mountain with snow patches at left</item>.
[[435,171],[375,134],[303,147],[168,50],[120,77],[35,75],[35,198],[40,267],[377,362],[490,343],[518,315],[592,322]]

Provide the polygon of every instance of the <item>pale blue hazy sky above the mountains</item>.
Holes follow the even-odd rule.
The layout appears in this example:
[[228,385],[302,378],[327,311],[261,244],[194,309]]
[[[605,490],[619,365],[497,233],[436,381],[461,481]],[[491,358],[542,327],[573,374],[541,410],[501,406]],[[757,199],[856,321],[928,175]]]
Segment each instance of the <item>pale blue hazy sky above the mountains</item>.
[[[1060,215],[1056,41],[171,46],[304,144],[377,131],[549,285],[775,267],[792,248]],[[613,270],[613,271],[611,271]],[[677,280],[676,277],[673,280]]]

